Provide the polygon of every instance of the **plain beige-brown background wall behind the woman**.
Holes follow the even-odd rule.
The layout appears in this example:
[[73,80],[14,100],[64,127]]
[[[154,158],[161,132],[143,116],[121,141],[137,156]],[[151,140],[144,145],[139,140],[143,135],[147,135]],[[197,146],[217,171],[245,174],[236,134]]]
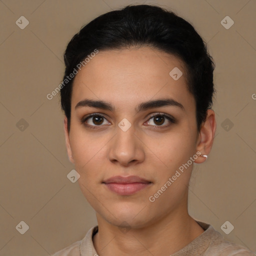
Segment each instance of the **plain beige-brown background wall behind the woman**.
[[[207,161],[194,166],[189,212],[256,251],[255,0],[0,0],[0,255],[49,255],[96,224],[78,183],[66,177],[74,166],[63,114],[58,96],[46,94],[62,79],[72,35],[130,3],[174,10],[208,43],[216,63],[217,130]],[[21,15],[29,21],[24,29],[15,24]],[[220,23],[226,15],[234,21],[229,29]],[[24,234],[15,228],[21,220],[29,226]],[[226,220],[234,226],[228,235],[220,228]]]

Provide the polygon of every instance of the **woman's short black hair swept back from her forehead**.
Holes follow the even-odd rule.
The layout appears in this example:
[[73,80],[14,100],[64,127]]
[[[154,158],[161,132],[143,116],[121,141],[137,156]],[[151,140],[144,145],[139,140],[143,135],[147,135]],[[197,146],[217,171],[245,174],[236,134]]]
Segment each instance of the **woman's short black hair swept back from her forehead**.
[[[83,27],[69,41],[64,52],[64,78],[88,54],[97,50],[150,46],[179,57],[185,65],[187,89],[195,98],[199,131],[212,107],[215,64],[206,43],[194,27],[172,11],[153,5],[128,5],[104,13]],[[75,76],[74,76],[75,77]],[[61,109],[70,130],[73,78],[60,90]]]

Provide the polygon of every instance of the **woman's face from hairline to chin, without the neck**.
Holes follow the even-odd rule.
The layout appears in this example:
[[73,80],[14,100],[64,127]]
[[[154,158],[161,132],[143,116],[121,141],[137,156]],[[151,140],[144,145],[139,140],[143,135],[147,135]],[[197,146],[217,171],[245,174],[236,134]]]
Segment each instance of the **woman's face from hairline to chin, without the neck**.
[[[108,108],[92,107],[85,99],[104,101]],[[169,104],[146,104],[159,99]],[[82,193],[113,225],[125,221],[142,227],[187,210],[192,164],[183,165],[183,172],[179,167],[196,155],[199,137],[195,100],[182,62],[172,55],[149,47],[99,51],[74,79],[69,135],[66,131],[69,158],[80,174]],[[147,182],[104,183],[116,175]]]

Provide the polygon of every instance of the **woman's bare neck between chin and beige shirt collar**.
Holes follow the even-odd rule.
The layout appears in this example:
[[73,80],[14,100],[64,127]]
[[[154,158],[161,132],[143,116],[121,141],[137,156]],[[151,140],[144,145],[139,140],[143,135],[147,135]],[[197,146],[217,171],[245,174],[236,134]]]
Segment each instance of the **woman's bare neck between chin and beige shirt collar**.
[[98,232],[93,244],[100,256],[170,255],[200,235],[204,230],[188,215],[176,212],[142,228],[122,231],[97,215]]

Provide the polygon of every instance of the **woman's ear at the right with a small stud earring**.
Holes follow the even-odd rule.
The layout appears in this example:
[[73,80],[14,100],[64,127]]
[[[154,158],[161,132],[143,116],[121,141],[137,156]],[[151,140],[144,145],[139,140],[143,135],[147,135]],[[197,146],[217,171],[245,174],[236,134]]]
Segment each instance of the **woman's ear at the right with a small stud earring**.
[[[203,122],[200,132],[198,134],[196,142],[196,152],[199,151],[201,154],[208,155],[212,147],[214,134],[216,130],[215,112],[212,109],[207,110],[207,116]],[[194,160],[196,163],[202,163],[205,161],[205,157],[198,156]]]

